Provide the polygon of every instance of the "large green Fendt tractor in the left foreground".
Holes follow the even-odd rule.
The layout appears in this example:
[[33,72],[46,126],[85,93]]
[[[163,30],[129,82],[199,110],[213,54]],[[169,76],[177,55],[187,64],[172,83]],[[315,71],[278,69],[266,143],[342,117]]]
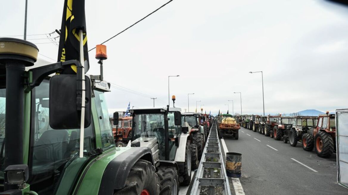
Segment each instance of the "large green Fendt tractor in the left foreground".
[[[115,147],[110,84],[83,77],[77,60],[29,69],[37,55],[28,41],[0,38],[0,194],[159,194],[152,151]],[[71,65],[76,75],[49,77]]]

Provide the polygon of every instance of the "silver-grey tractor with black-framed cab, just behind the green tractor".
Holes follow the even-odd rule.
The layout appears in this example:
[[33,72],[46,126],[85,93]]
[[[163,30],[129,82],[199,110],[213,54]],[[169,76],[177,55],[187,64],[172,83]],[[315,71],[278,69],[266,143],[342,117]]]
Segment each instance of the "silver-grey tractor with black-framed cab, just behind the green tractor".
[[[170,185],[166,189],[176,194],[179,181],[181,185],[189,185],[192,167],[198,166],[197,150],[191,150],[196,145],[190,140],[190,125],[188,122],[181,124],[181,109],[167,106],[130,109],[129,112],[133,116],[132,146],[151,149],[159,183],[168,182]],[[195,159],[193,163],[192,158]],[[166,177],[169,175],[172,177]]]

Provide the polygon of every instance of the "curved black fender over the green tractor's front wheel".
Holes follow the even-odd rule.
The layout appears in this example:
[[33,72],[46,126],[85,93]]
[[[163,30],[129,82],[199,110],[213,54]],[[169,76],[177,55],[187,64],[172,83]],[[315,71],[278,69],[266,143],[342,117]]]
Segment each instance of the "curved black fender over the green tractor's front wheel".
[[147,160],[154,165],[149,147],[130,147],[112,159],[104,170],[98,195],[113,194],[114,189],[124,188],[130,169],[139,159]]

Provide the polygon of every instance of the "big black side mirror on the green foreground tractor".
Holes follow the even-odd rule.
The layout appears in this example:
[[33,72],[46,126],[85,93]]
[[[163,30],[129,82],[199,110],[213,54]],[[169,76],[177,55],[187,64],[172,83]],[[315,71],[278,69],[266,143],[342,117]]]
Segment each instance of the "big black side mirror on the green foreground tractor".
[[[49,125],[53,129],[78,129],[81,111],[77,107],[76,75],[55,75],[49,81]],[[85,76],[85,124],[91,122],[91,82]]]

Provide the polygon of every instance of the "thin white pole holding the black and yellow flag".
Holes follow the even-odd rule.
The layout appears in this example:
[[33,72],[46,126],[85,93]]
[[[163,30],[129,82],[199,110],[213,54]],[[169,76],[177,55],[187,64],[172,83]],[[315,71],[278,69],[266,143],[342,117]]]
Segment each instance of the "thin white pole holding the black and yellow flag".
[[84,156],[84,137],[85,137],[85,64],[84,64],[84,37],[83,32],[80,30],[80,63],[81,63],[81,75],[82,75],[82,102],[81,102],[81,123],[80,123],[80,158]]

